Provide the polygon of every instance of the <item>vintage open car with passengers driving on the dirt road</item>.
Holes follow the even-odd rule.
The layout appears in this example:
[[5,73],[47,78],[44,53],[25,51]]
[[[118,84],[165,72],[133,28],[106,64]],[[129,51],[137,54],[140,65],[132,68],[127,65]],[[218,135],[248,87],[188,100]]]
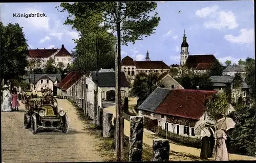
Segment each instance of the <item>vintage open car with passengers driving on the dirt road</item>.
[[[48,96],[48,98],[45,98]],[[50,98],[49,98],[50,96]],[[65,111],[58,110],[57,100],[51,95],[43,95],[42,98],[25,97],[24,127],[31,128],[33,134],[38,128],[59,129],[67,133],[69,119]]]

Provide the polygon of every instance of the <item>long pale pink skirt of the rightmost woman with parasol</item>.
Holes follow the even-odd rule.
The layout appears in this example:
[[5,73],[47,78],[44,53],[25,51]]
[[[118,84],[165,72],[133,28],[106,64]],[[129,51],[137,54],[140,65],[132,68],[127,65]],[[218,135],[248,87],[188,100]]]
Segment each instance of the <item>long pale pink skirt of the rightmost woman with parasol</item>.
[[216,142],[215,160],[227,161],[228,152],[224,138],[218,138]]

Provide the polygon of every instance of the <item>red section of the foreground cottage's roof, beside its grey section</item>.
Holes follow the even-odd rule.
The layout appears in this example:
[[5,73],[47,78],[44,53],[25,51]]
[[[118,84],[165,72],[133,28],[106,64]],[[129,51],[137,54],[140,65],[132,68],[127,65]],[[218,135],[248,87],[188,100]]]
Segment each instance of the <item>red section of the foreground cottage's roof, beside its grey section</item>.
[[205,111],[205,100],[217,91],[171,90],[156,109],[156,113],[198,120]]

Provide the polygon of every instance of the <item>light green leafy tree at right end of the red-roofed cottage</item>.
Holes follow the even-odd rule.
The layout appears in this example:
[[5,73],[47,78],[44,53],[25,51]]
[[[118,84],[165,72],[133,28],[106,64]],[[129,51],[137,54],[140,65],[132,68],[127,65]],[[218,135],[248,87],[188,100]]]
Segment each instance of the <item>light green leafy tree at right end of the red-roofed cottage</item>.
[[217,121],[226,115],[229,103],[224,92],[219,92],[206,100],[206,113],[211,120]]

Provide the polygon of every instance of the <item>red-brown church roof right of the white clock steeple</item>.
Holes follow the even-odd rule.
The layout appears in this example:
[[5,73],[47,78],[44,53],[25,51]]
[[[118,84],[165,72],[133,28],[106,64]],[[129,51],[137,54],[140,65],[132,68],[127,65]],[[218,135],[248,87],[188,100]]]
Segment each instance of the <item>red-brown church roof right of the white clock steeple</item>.
[[216,61],[216,58],[214,55],[193,55],[188,56],[186,60],[186,65],[188,67],[196,68],[198,64],[213,64]]

